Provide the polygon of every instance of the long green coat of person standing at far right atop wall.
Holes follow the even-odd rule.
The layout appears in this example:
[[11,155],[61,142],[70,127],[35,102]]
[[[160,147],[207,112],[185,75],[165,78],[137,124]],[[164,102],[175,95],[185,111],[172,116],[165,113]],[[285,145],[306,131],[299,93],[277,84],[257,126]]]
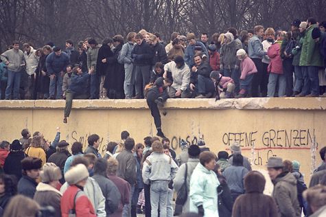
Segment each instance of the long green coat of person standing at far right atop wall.
[[318,26],[314,24],[307,28],[300,56],[300,66],[323,67],[324,65],[323,58],[319,52],[320,45],[312,39],[312,30],[314,27]]

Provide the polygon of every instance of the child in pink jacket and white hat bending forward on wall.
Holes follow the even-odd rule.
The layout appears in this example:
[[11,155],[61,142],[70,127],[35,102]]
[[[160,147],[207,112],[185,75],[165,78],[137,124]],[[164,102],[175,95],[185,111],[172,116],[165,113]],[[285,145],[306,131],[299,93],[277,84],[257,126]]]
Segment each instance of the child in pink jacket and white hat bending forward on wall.
[[240,69],[240,92],[235,98],[244,98],[248,94],[248,89],[251,87],[253,75],[257,73],[255,63],[248,57],[244,49],[237,50],[237,58],[241,60]]

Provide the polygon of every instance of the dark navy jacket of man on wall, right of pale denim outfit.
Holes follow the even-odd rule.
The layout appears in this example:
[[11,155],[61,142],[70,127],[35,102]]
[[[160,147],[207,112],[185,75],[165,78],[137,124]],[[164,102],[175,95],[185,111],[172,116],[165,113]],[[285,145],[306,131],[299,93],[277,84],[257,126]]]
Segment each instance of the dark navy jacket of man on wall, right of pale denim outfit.
[[134,58],[135,65],[152,65],[153,52],[150,45],[143,40],[141,45],[137,44],[132,49],[131,57]]

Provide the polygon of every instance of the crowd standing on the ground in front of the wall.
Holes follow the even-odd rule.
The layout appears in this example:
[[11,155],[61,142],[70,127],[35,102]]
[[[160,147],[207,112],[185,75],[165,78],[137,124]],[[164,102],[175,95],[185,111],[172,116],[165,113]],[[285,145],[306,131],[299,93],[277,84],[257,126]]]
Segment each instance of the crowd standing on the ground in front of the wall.
[[[27,129],[21,135],[0,143],[0,216],[326,215],[326,147],[307,188],[299,161],[270,157],[264,175],[237,142],[215,155],[202,139],[181,139],[176,155],[167,138],[135,144],[124,130],[100,153],[96,134],[84,149],[60,140],[60,128],[53,142]],[[271,195],[264,194],[269,179]]]

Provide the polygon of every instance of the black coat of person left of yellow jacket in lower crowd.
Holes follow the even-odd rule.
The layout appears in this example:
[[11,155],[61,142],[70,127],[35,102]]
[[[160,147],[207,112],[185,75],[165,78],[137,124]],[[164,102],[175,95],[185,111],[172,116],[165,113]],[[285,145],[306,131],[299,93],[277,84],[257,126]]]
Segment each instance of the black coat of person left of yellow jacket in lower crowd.
[[5,174],[15,175],[16,181],[21,179],[21,161],[26,157],[22,150],[11,151],[9,155],[5,158],[5,163],[3,165],[3,171]]

